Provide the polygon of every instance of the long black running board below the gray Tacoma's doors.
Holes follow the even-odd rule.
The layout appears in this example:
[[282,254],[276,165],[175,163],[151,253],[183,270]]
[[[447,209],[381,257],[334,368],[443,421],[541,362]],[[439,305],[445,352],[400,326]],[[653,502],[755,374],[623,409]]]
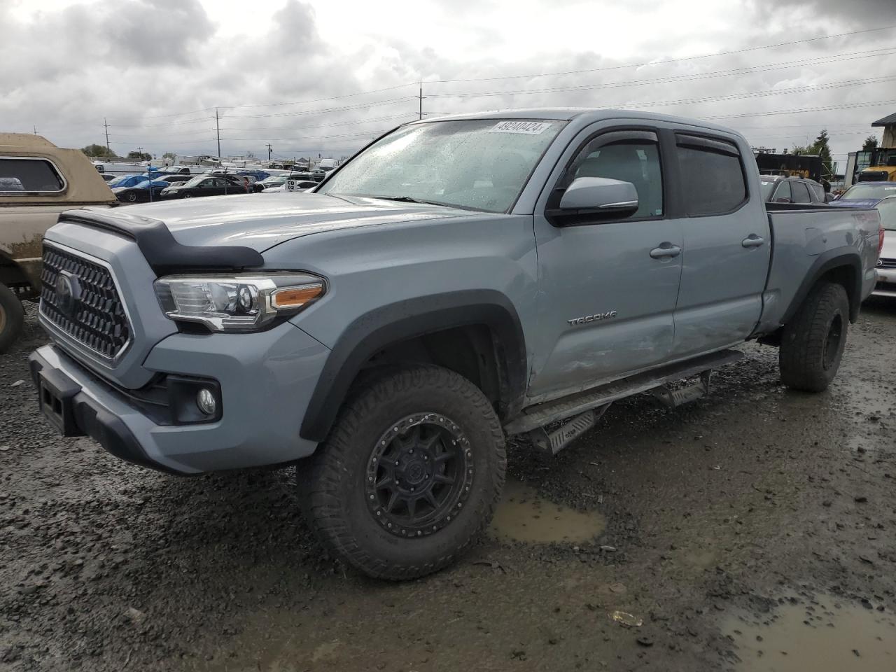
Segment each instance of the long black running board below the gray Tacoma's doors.
[[[546,403],[524,409],[519,416],[504,425],[504,431],[508,435],[530,432],[538,427],[549,425],[557,420],[581,415],[586,410],[605,406],[613,401],[630,397],[633,394],[648,392],[666,383],[702,374],[717,366],[732,364],[743,357],[744,353],[740,350],[713,352],[710,355],[688,359],[677,364],[661,366],[643,374],[632,375],[613,383],[586,390],[585,392],[577,392],[556,401],[547,401]],[[679,398],[684,396],[679,394]]]

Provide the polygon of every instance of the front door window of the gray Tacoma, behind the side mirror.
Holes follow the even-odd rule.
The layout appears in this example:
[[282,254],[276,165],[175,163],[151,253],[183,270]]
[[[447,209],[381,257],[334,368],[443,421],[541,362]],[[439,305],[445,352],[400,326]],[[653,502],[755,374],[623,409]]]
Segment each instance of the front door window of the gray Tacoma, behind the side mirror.
[[[620,139],[613,141],[610,137]],[[595,138],[573,159],[560,186],[569,186],[576,177],[608,177],[631,182],[638,192],[638,210],[632,218],[663,214],[663,178],[656,134],[624,131]]]

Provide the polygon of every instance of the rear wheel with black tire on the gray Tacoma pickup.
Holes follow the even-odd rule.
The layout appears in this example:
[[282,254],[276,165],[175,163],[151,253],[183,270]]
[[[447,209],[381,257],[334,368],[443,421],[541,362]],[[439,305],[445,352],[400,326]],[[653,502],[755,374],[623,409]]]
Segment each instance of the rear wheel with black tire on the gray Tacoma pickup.
[[848,327],[846,289],[833,282],[813,289],[781,334],[778,361],[784,384],[804,392],[827,389],[840,368]]

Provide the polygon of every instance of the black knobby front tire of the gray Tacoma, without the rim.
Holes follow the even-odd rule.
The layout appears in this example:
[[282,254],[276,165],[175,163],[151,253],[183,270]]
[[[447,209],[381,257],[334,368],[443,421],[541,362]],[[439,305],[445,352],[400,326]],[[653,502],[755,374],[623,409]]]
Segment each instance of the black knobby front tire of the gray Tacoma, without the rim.
[[[461,509],[438,531],[401,538],[366,501],[378,440],[400,418],[452,418],[474,476]],[[504,431],[485,395],[440,366],[415,365],[373,376],[349,394],[327,440],[297,469],[306,518],[334,556],[369,576],[402,581],[436,572],[461,555],[491,521],[504,488]]]

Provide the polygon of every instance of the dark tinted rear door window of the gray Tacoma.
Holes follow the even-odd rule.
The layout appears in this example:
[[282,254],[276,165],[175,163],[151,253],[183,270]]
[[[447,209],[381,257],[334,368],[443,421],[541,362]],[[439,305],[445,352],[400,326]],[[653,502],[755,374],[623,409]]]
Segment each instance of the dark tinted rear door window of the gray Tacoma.
[[682,198],[689,215],[723,214],[746,200],[746,180],[733,142],[676,134]]

